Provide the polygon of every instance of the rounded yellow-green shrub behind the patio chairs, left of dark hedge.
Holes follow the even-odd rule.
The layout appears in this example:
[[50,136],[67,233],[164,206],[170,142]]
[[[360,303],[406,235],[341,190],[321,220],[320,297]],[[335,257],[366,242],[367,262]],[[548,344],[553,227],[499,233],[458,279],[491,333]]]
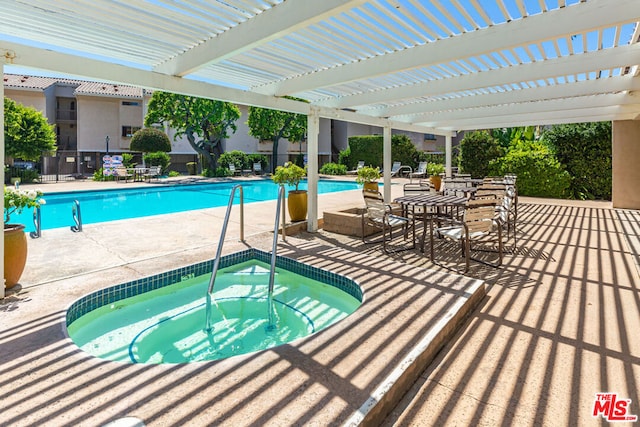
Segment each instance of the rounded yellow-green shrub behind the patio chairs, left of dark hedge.
[[540,142],[519,143],[489,165],[489,175],[509,173],[518,176],[518,194],[522,196],[562,198],[571,182],[553,152]]

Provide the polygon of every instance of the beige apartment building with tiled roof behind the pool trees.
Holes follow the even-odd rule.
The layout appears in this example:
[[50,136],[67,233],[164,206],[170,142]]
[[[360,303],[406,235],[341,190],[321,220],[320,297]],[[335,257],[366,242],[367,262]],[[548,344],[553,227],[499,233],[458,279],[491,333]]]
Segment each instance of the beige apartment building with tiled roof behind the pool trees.
[[[41,111],[56,125],[58,152],[42,160],[42,174],[90,175],[102,166],[105,154],[130,152],[133,133],[143,126],[152,92],[126,85],[17,74],[4,75],[5,96]],[[225,141],[224,150],[260,153],[270,163],[283,164],[299,153],[306,143],[281,141],[277,159],[272,159],[272,143],[249,135],[248,107],[240,105],[237,131]],[[165,129],[172,143],[171,168],[186,171],[186,163],[196,161],[196,152],[186,138],[175,139],[175,130]],[[319,164],[337,160],[337,153],[353,135],[379,134],[381,128],[337,120],[321,119]],[[444,140],[422,134],[408,134],[418,150],[437,151]],[[141,161],[139,153],[134,153]]]

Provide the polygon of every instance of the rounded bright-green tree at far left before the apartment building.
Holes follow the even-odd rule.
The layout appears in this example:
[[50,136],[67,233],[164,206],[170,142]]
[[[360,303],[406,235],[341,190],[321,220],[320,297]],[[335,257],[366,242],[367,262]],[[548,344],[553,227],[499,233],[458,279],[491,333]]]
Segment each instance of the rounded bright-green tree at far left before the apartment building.
[[4,98],[5,155],[38,161],[56,151],[56,133],[41,112]]

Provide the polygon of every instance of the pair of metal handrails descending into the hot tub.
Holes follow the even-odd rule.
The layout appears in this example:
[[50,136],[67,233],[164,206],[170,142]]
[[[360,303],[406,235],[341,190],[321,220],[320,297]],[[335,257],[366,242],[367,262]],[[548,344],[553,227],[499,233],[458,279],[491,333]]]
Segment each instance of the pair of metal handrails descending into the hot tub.
[[[227,204],[227,212],[224,216],[224,222],[222,223],[222,231],[220,233],[220,241],[218,242],[218,249],[216,250],[216,258],[213,261],[213,270],[211,271],[211,278],[209,279],[209,287],[207,288],[206,295],[206,310],[205,310],[205,332],[211,332],[211,294],[213,293],[213,287],[216,281],[216,275],[218,274],[218,268],[220,267],[220,258],[222,256],[222,246],[224,245],[224,238],[227,234],[227,224],[229,223],[229,217],[231,216],[231,207],[233,206],[233,198],[235,197],[236,189],[240,189],[240,241],[244,242],[244,196],[242,192],[242,185],[238,184],[231,189],[231,195],[229,196],[229,203]],[[271,252],[271,270],[269,272],[269,327],[273,327],[273,283],[276,271],[276,249],[278,243],[278,222],[280,220],[280,206],[284,206],[284,186],[281,185],[278,190],[276,208],[276,224],[273,233],[273,249]],[[285,236],[285,218],[282,217],[282,240],[286,240]]]

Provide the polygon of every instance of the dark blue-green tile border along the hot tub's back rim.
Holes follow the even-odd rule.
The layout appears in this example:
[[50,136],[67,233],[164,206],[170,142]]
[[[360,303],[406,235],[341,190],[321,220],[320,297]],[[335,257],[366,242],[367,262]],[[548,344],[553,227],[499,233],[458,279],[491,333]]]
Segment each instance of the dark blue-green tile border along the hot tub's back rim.
[[[271,254],[259,249],[250,248],[241,252],[225,255],[220,258],[219,268],[229,267],[245,261],[257,259],[271,264]],[[211,272],[214,259],[197,264],[181,267],[155,276],[121,283],[109,288],[92,292],[71,304],[67,310],[67,326],[79,317],[104,305],[139,295],[145,292],[159,289],[165,286],[180,283],[182,280],[194,276],[201,276]],[[322,270],[312,265],[304,264],[292,258],[276,256],[276,268],[283,268],[293,273],[317,280],[327,285],[334,286],[362,302],[362,288],[352,279],[331,271]]]

